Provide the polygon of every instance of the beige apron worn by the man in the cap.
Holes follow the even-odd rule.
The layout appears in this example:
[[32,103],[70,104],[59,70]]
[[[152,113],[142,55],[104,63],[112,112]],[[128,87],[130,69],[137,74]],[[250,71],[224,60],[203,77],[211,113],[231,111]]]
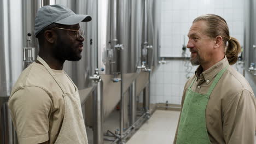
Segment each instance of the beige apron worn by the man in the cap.
[[37,60],[44,65],[44,67],[49,71],[50,75],[53,76],[53,79],[56,81],[57,85],[61,88],[63,94],[62,97],[64,98],[65,103],[65,112],[63,117],[63,122],[61,125],[60,133],[55,141],[55,144],[61,143],[75,143],[75,144],[88,144],[86,129],[84,125],[84,119],[82,115],[82,108],[78,93],[78,88],[75,87],[75,93],[70,94],[65,91],[65,88],[62,87],[60,81],[58,81],[53,73],[53,70],[49,67],[49,65],[39,56]]

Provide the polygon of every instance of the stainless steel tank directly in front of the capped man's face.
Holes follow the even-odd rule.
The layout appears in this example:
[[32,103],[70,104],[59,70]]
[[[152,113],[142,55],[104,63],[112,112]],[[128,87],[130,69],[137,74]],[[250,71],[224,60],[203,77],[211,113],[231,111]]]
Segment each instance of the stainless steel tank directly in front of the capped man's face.
[[76,14],[88,14],[92,16],[90,22],[80,22],[79,25],[85,32],[85,41],[82,59],[78,62],[66,61],[64,70],[77,85],[82,103],[87,95],[94,89],[93,81],[89,79],[97,68],[97,1],[95,0],[56,0],[56,4],[62,4],[70,8]]

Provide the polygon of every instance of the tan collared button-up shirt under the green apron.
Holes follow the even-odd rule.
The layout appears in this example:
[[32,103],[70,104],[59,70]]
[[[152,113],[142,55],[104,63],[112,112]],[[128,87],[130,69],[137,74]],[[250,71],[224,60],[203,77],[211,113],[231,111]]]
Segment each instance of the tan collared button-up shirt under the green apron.
[[[222,61],[202,72],[199,66],[184,87],[185,94],[191,82],[191,89],[206,94],[220,70],[229,65],[225,57]],[[251,86],[240,73],[230,65],[220,78],[208,100],[206,107],[206,128],[211,143],[253,144],[256,130],[256,101]],[[176,143],[177,132],[174,139]]]

